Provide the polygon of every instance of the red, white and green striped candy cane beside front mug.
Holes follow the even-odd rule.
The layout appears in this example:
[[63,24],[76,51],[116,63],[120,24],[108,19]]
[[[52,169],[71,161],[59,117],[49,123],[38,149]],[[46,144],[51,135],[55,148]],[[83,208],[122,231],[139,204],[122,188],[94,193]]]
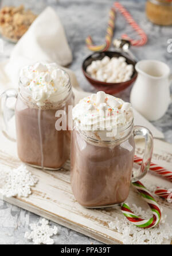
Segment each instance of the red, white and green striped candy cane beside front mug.
[[139,191],[140,195],[142,195],[144,201],[147,202],[147,204],[150,206],[153,217],[148,220],[144,220],[136,216],[130,209],[130,207],[127,204],[123,204],[122,206],[122,212],[124,216],[127,217],[127,219],[136,227],[139,228],[154,228],[159,224],[161,221],[161,209],[159,208],[159,205],[155,201],[154,197],[150,194],[150,192],[146,189],[146,187],[143,186],[140,182],[132,183],[134,187]]

